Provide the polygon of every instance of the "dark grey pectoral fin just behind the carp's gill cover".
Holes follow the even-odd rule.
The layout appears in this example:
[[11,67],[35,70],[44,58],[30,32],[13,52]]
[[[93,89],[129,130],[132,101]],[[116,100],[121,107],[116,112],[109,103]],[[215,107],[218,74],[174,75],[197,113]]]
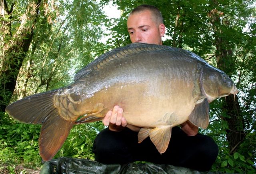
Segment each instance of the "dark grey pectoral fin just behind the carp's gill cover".
[[197,104],[190,113],[188,120],[198,127],[206,129],[209,124],[209,103],[207,99]]

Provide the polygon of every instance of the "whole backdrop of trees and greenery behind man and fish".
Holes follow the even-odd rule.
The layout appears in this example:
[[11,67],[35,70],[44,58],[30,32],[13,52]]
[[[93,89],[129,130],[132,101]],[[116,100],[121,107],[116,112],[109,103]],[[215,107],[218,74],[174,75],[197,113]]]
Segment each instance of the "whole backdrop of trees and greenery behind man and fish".
[[[213,171],[256,172],[256,3],[253,0],[0,0],[0,162],[40,166],[40,125],[4,112],[15,100],[65,86],[98,55],[130,43],[129,12],[140,4],[159,8],[164,45],[188,49],[226,72],[237,96],[210,105],[210,126],[200,130],[220,149]],[[103,7],[120,10],[108,19]],[[103,29],[108,30],[108,34]],[[110,33],[110,34],[109,34]],[[106,42],[101,38],[111,35]],[[91,145],[102,123],[74,127],[58,156],[93,159]],[[5,152],[8,152],[6,154]],[[36,159],[36,160],[35,160]]]

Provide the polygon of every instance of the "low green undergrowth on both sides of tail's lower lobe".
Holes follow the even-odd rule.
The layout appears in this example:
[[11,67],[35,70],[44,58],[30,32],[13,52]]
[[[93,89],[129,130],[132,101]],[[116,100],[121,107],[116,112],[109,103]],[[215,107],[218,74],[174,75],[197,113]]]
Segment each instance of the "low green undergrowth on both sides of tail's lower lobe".
[[[0,163],[23,164],[32,168],[41,166],[42,159],[38,151],[41,125],[19,123],[8,117],[6,113],[1,113],[1,116]],[[54,158],[71,156],[94,159],[92,141],[102,129],[104,125],[101,122],[75,125]]]

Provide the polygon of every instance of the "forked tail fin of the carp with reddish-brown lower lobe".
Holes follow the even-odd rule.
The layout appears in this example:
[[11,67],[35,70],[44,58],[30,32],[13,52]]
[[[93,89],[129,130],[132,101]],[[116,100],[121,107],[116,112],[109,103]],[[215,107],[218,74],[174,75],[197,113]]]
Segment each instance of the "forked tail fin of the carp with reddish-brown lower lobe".
[[50,160],[62,147],[74,121],[63,119],[53,104],[52,90],[18,100],[6,107],[6,111],[24,123],[42,124],[39,151],[43,160]]

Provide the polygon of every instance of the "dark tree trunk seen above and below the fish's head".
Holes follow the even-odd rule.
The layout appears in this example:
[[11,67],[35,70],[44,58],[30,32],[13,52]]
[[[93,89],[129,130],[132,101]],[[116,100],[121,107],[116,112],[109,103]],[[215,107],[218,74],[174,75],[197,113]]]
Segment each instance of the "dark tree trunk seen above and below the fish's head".
[[[216,61],[219,69],[226,72],[228,75],[232,74],[231,64],[233,53],[228,45],[228,41],[224,40],[222,35],[221,26],[224,25],[220,21],[220,12],[214,9],[209,13],[211,18],[212,27],[214,29],[215,45],[216,45]],[[230,145],[230,153],[234,152],[238,145],[245,137],[244,133],[244,119],[242,111],[239,106],[238,96],[230,95],[224,100],[222,110],[227,116],[222,116],[222,119],[227,121],[229,129],[226,130],[226,137]]]

